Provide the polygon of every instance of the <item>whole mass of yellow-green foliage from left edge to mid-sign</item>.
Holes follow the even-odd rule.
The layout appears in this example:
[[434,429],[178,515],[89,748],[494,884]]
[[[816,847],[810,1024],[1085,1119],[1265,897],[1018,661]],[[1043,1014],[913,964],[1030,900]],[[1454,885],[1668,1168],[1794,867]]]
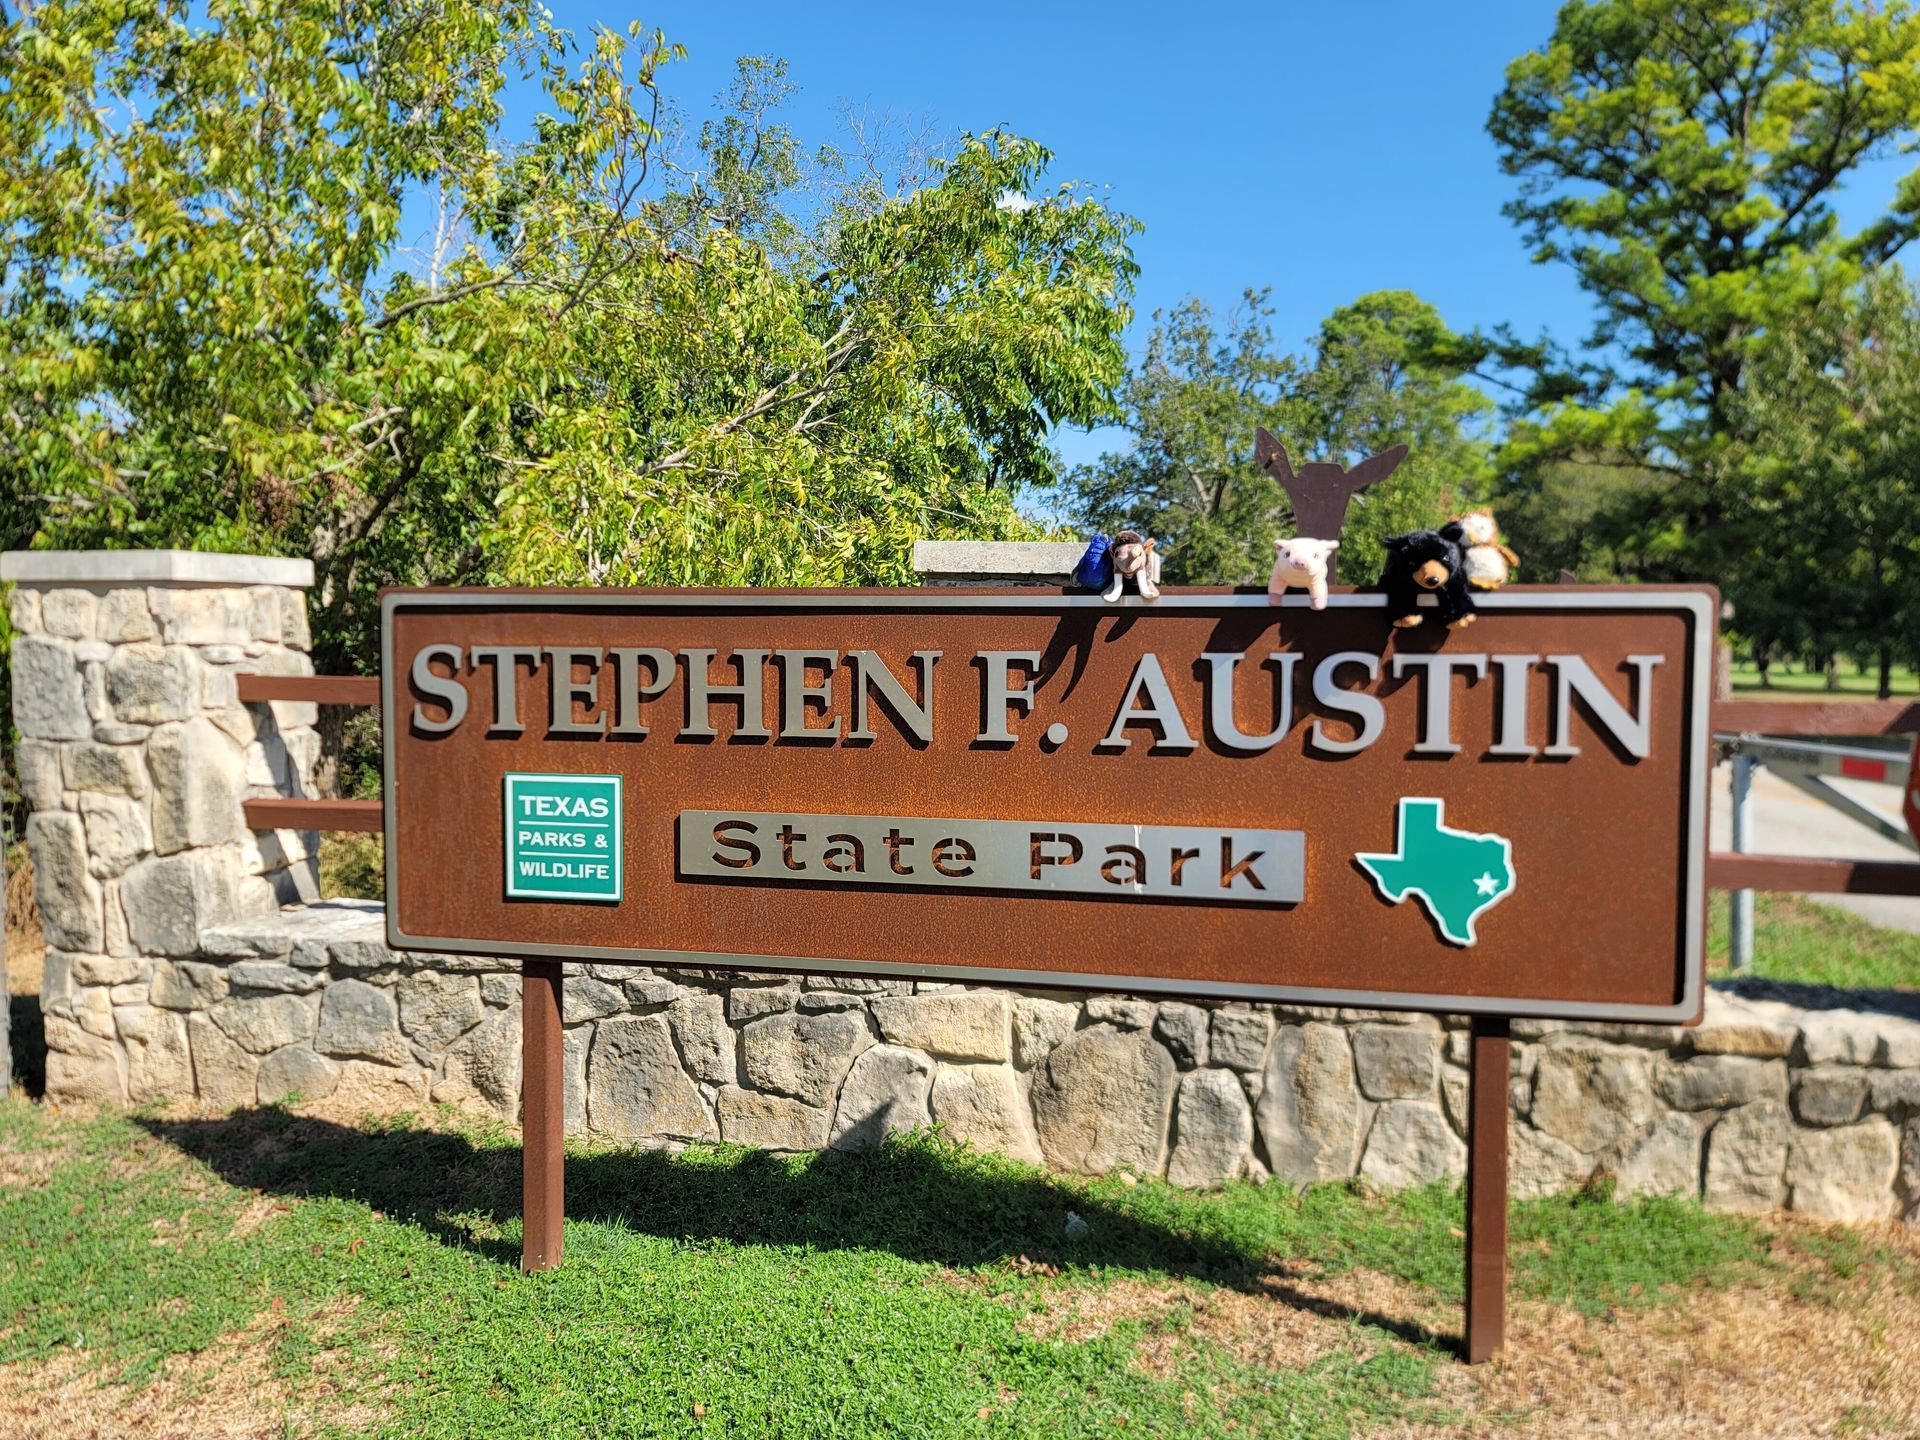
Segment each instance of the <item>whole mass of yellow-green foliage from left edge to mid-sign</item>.
[[10,15],[0,543],[311,555],[340,670],[384,584],[887,582],[1025,532],[1123,372],[1133,223],[1004,134],[822,200],[768,60],[664,165],[678,54],[465,0]]

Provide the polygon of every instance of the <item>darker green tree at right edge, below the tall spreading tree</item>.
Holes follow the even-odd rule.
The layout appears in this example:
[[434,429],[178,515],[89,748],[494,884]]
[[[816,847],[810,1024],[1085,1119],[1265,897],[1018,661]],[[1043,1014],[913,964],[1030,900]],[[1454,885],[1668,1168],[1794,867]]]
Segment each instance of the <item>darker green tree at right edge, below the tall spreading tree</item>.
[[1920,296],[1887,267],[1772,336],[1743,394],[1745,528],[1764,564],[1730,589],[1757,651],[1816,637],[1891,695],[1920,655]]

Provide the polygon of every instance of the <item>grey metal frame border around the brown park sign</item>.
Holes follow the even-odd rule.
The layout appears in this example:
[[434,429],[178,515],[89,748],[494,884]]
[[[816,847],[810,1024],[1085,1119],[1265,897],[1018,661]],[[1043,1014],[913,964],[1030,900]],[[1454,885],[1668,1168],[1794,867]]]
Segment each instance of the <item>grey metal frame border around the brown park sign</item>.
[[[1430,597],[1423,597],[1427,603]],[[1308,609],[1308,595],[1286,595],[1279,609]],[[394,614],[401,607],[432,609],[685,609],[720,611],[1217,611],[1275,609],[1265,591],[1179,591],[1158,601],[1127,595],[1119,603],[1100,595],[1062,595],[1050,588],[1018,593],[1004,589],[530,589],[530,588],[407,588],[380,591],[380,756],[384,787],[382,833],[392,837],[397,783],[394,741],[397,733]],[[826,956],[735,954],[720,950],[647,950],[616,945],[501,943],[470,937],[409,935],[399,927],[399,856],[386,845],[386,943],[396,950],[424,954],[490,954],[520,960],[614,960],[682,970],[776,970],[822,975],[876,975],[895,979],[962,981],[1014,989],[1079,989],[1117,995],[1204,995],[1206,998],[1263,1004],[1308,1004],[1359,1010],[1421,1010],[1459,1016],[1523,1016],[1538,1020],[1596,1020],[1613,1023],[1684,1025],[1701,1014],[1707,964],[1707,781],[1713,745],[1713,645],[1718,591],[1711,586],[1670,589],[1653,586],[1507,588],[1476,595],[1480,611],[1686,611],[1692,634],[1692,693],[1688,743],[1692,770],[1684,795],[1688,831],[1682,883],[1686,887],[1686,945],[1680,996],[1672,1004],[1607,1004],[1596,1000],[1526,1000],[1507,996],[1423,995],[1411,991],[1315,989],[1304,985],[1206,985],[1165,975],[1110,975],[1062,970],[1014,970],[996,966],[916,966]],[[1386,609],[1386,595],[1348,591],[1327,597],[1329,609]],[[624,887],[622,887],[624,891]],[[622,899],[620,904],[626,900]]]

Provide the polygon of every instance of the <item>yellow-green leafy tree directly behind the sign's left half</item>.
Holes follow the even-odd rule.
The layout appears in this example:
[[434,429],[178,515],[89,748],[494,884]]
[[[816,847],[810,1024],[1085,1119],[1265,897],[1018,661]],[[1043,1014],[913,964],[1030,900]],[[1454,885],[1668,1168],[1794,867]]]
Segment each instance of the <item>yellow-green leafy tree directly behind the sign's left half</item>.
[[837,202],[818,271],[710,227],[609,276],[499,572],[902,584],[916,538],[1033,534],[1012,495],[1052,478],[1054,422],[1108,413],[1133,276],[1133,223],[1073,186],[1002,204],[1046,159],[970,138],[906,196]]

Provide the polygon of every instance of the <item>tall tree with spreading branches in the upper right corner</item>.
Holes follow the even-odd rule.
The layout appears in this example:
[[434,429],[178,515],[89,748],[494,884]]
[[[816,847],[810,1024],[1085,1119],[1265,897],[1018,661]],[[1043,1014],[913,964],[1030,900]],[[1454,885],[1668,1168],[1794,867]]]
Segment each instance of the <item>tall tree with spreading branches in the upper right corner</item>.
[[1920,171],[1855,232],[1834,209],[1916,123],[1920,19],[1901,0],[1569,0],[1507,67],[1488,131],[1534,259],[1571,265],[1599,307],[1596,357],[1513,428],[1507,465],[1663,476],[1634,520],[1668,572],[1749,553],[1722,524],[1747,369],[1920,230]]

